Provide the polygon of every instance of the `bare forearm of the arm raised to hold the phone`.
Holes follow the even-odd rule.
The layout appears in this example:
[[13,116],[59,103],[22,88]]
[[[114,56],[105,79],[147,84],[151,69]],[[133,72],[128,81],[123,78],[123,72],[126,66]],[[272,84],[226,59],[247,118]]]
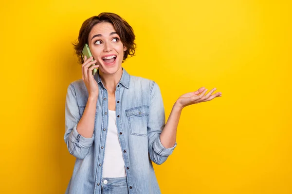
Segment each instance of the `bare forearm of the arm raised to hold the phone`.
[[94,130],[97,97],[88,97],[84,113],[77,124],[77,131],[86,138],[91,138]]

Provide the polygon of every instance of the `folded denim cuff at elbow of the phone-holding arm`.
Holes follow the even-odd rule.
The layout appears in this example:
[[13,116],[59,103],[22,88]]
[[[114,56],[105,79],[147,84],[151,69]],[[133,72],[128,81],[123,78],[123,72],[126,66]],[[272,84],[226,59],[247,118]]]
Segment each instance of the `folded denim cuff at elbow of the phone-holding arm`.
[[69,139],[71,142],[75,143],[78,147],[81,148],[88,148],[92,145],[94,141],[94,134],[92,134],[91,138],[86,138],[80,135],[77,131],[77,124],[74,126],[74,128],[71,131],[71,134],[69,136]]

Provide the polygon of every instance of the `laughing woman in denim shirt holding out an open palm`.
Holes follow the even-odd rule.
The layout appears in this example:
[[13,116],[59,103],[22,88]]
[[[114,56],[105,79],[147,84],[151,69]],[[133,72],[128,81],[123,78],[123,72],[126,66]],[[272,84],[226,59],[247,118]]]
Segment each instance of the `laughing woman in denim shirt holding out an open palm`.
[[[204,87],[184,94],[165,125],[157,83],[122,67],[135,53],[134,40],[130,25],[113,13],[82,24],[74,45],[82,79],[69,85],[66,96],[64,140],[76,157],[66,194],[160,194],[152,162],[162,164],[176,147],[183,107],[220,96],[211,95],[215,88],[205,95]],[[92,62],[81,57],[86,43]]]

